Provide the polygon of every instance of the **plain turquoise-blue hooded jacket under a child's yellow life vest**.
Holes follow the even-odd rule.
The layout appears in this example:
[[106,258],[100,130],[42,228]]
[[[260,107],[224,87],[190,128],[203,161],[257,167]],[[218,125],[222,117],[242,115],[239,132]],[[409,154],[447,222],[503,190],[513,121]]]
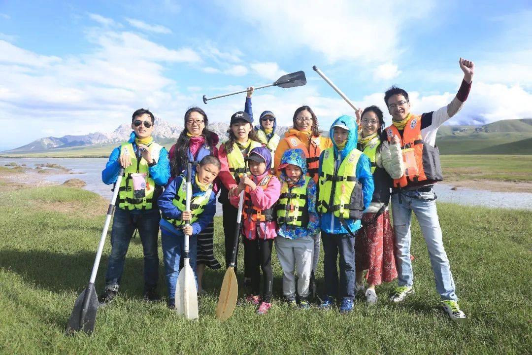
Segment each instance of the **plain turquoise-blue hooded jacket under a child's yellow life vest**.
[[[356,144],[359,140],[358,134],[358,125],[355,122],[355,119],[351,116],[343,115],[340,116],[332,123],[329,130],[329,135],[332,137],[335,125],[345,125],[349,128],[349,135],[347,136],[347,143],[345,147],[340,151],[340,159],[343,161],[345,157],[353,150],[356,149]],[[332,147],[334,150],[334,156],[338,154],[338,146],[332,139]],[[335,168],[342,163],[342,161],[335,161]],[[323,165],[323,152],[320,155],[320,168],[319,172],[321,174],[321,167]],[[371,175],[371,161],[367,155],[362,154],[358,163],[356,164],[356,179],[362,184],[362,196],[364,199],[364,209],[367,209],[371,203],[373,197],[373,176]],[[347,227],[354,233],[360,228],[360,220],[345,219],[344,220]],[[332,212],[327,212],[321,216],[321,229],[329,234],[346,234],[348,233],[345,226],[340,222],[340,219],[335,217]]]

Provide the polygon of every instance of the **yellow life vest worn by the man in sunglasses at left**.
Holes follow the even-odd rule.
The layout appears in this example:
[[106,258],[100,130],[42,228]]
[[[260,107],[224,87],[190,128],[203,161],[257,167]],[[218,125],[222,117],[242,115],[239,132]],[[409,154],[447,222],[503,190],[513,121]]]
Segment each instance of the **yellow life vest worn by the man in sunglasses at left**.
[[[162,146],[152,142],[148,146],[148,152],[151,154],[155,162],[159,161],[159,154],[161,153]],[[128,156],[131,159],[131,164],[124,169],[124,178],[120,183],[118,192],[118,207],[126,210],[151,210],[157,203],[157,198],[161,193],[161,187],[155,186],[155,181],[149,175],[148,162],[140,157],[137,159],[133,145],[129,142],[122,143],[120,146],[120,156]],[[133,180],[131,174],[135,173],[146,174],[146,189],[145,196],[136,199],[133,191]],[[154,194],[154,192],[157,193]]]

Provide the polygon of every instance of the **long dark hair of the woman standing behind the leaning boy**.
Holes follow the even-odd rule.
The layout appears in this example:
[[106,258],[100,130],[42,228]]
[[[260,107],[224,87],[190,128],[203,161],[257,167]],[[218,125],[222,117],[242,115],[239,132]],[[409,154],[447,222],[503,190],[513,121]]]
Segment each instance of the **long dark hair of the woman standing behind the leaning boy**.
[[203,116],[203,120],[205,121],[205,127],[203,128],[201,135],[203,136],[203,138],[205,138],[205,143],[207,146],[210,147],[211,154],[212,154],[212,148],[214,144],[214,140],[212,136],[214,135],[214,133],[209,128],[207,128],[209,126],[209,119],[207,118],[207,114],[198,107],[192,107],[188,109],[187,112],[185,112],[185,123],[184,123],[185,126],[183,130],[181,131],[181,134],[177,138],[176,151],[175,151],[175,154],[173,155],[172,161],[170,162],[170,169],[172,172],[172,176],[178,176],[179,174],[181,174],[183,168],[188,163],[188,150],[189,150],[189,144],[190,144],[190,137],[187,135],[188,133],[187,121],[190,118],[190,114],[192,114],[193,112],[197,112]]

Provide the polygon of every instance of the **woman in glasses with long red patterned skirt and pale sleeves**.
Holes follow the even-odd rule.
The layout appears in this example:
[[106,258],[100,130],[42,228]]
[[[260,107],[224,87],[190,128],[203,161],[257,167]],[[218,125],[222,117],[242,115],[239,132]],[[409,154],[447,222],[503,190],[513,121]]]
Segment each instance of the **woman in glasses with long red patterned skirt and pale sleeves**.
[[371,174],[375,190],[371,204],[362,215],[362,227],[356,232],[355,244],[355,292],[364,291],[364,270],[368,289],[365,298],[368,304],[377,302],[375,286],[391,282],[397,278],[394,257],[395,233],[390,222],[388,203],[392,178],[403,175],[404,164],[401,145],[398,139],[391,144],[381,139],[384,129],[383,111],[377,106],[369,106],[356,111],[359,125],[357,148],[371,161]]

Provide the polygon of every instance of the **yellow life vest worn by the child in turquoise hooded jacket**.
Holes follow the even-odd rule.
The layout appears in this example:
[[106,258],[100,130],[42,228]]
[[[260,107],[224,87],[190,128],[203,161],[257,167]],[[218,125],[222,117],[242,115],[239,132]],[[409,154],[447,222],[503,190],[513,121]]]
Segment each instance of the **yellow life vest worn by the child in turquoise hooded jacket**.
[[[339,155],[339,154],[338,154]],[[335,171],[334,148],[323,152],[317,210],[341,219],[360,219],[364,210],[362,185],[356,179],[356,164],[362,152],[353,149]],[[338,157],[339,158],[339,157]]]

